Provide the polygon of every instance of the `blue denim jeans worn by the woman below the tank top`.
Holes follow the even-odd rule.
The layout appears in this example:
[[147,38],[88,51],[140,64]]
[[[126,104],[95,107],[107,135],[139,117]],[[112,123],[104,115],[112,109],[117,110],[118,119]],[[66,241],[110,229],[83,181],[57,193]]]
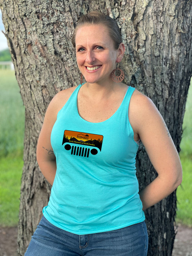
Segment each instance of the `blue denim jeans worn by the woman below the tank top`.
[[43,216],[24,256],[146,256],[145,222],[126,228],[76,235],[52,225]]

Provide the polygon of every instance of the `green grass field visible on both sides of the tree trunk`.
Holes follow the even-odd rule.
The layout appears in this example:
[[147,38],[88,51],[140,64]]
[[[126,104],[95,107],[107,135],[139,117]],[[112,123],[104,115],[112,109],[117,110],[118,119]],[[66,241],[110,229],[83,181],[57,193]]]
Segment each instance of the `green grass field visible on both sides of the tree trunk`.
[[[14,71],[0,70],[0,226],[18,223],[24,136],[24,106]],[[183,182],[177,190],[177,221],[192,226],[192,85],[183,123],[180,158]]]

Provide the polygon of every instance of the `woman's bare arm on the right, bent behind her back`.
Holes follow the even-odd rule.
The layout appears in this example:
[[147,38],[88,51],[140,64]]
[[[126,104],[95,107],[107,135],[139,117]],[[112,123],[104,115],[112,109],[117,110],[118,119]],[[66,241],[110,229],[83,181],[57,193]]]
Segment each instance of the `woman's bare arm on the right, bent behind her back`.
[[[154,103],[135,91],[129,119],[135,138],[140,138],[158,176],[140,191],[143,209],[171,194],[182,182],[182,166],[166,124]],[[144,171],[144,170],[143,170]]]

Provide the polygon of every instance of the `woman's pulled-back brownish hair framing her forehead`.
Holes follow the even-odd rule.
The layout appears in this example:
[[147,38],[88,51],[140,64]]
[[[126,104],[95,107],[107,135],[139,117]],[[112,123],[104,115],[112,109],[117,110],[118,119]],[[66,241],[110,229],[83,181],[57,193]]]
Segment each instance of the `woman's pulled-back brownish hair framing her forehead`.
[[84,25],[104,25],[108,29],[109,35],[113,40],[115,49],[118,49],[120,43],[122,43],[121,30],[117,25],[115,19],[112,19],[110,16],[104,13],[90,12],[88,14],[81,16],[81,18],[77,22],[77,26],[72,36],[73,47],[75,47],[75,37],[77,29]]

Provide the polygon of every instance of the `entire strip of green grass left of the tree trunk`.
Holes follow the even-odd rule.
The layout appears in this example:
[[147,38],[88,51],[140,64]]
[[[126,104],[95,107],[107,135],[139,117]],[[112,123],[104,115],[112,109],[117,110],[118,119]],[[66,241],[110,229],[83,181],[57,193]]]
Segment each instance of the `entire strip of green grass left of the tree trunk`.
[[24,106],[12,70],[0,70],[0,226],[18,223]]

